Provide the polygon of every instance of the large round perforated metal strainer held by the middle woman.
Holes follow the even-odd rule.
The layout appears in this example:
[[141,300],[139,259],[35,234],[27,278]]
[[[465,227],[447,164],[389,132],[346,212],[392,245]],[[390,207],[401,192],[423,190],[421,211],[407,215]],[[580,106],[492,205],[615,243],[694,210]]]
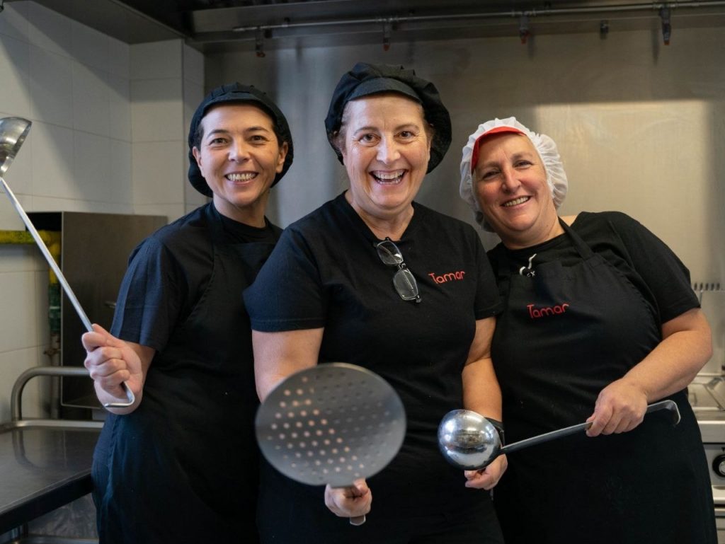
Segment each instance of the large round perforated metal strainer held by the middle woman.
[[[326,363],[277,385],[260,405],[255,427],[262,453],[285,476],[349,487],[392,461],[405,438],[405,409],[378,374]],[[364,522],[365,516],[350,518]]]

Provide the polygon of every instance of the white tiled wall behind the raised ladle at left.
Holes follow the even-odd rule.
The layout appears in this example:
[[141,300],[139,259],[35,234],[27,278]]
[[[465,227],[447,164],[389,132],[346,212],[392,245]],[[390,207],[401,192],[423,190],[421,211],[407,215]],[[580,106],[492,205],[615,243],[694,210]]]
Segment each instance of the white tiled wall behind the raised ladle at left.
[[[0,13],[0,117],[33,122],[5,175],[27,212],[180,217],[186,130],[204,92],[204,57],[181,40],[129,46],[33,1]],[[191,113],[189,113],[191,111]],[[0,194],[0,230],[24,230]],[[50,364],[47,264],[35,246],[0,245],[0,422],[28,367]],[[24,414],[47,403],[30,382]]]

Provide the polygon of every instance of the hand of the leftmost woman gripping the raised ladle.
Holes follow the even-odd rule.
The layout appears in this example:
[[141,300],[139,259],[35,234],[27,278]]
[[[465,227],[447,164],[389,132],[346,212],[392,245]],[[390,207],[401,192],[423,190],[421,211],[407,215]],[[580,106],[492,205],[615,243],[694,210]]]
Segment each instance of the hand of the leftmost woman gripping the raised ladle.
[[101,403],[125,401],[125,382],[125,387],[130,388],[136,396],[136,404],[113,411],[133,411],[141,400],[144,384],[144,363],[133,348],[136,345],[116,338],[100,325],[93,325],[93,328],[94,332],[83,334],[81,342],[83,348],[86,348],[86,360],[83,364],[94,380],[96,395]]

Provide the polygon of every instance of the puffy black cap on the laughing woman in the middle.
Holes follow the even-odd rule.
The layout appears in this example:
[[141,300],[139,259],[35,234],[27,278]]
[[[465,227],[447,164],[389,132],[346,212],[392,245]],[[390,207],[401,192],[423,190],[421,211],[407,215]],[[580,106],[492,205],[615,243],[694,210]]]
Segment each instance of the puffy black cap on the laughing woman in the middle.
[[325,128],[327,139],[339,161],[343,162],[342,154],[334,141],[340,130],[345,104],[361,96],[376,93],[401,93],[423,106],[426,121],[433,125],[435,132],[431,143],[431,159],[428,161],[428,172],[433,170],[443,160],[451,143],[451,119],[448,110],[441,101],[436,85],[418,78],[413,70],[388,64],[358,62],[337,83],[325,119]]

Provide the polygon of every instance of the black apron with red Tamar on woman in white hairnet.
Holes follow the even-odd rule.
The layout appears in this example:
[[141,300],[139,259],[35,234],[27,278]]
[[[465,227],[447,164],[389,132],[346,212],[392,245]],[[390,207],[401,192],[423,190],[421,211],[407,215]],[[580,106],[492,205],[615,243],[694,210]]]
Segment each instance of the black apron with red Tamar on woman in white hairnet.
[[[602,388],[660,342],[657,309],[623,272],[560,220],[579,259],[546,261],[547,248],[498,281],[505,311],[492,357],[507,442],[584,422]],[[537,248],[533,248],[531,254]],[[542,264],[537,264],[540,262]],[[715,543],[708,467],[684,391],[673,427],[654,413],[631,432],[573,435],[512,453],[494,490],[507,544]]]

